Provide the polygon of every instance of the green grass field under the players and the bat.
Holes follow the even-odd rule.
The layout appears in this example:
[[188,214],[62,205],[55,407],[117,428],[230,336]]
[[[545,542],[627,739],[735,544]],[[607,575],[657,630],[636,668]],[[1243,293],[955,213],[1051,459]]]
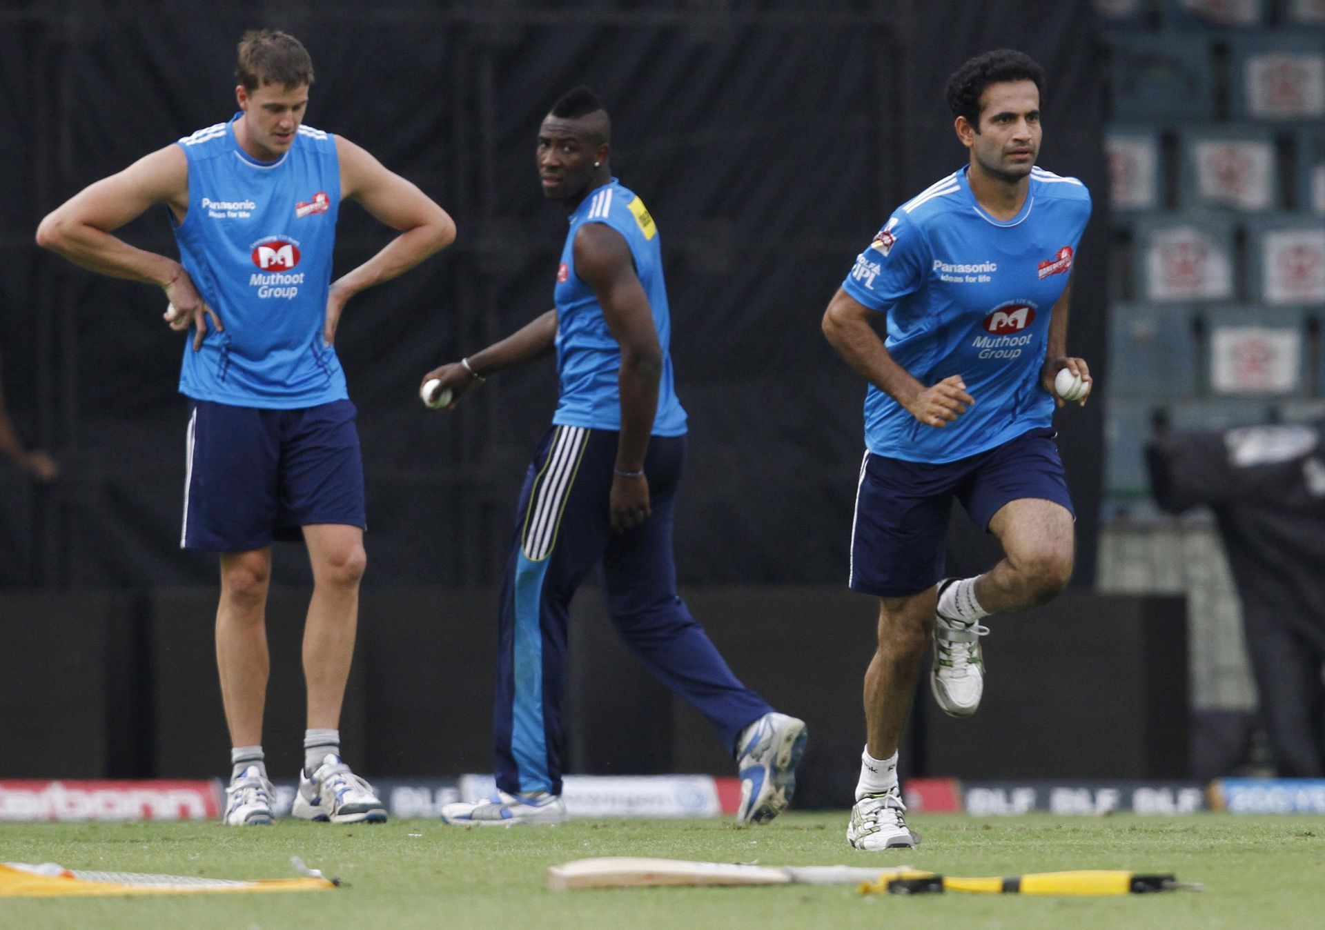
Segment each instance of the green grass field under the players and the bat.
[[[788,813],[759,829],[719,820],[580,820],[456,829],[436,821],[335,827],[285,820],[0,824],[0,861],[223,878],[292,876],[289,858],[347,886],[292,894],[0,900],[7,930],[284,930],[343,927],[1162,927],[1325,926],[1325,819],[914,816],[905,854],[859,853],[845,812]],[[766,865],[910,864],[947,874],[1060,869],[1174,872],[1203,892],[1116,898],[857,896],[851,888],[549,892],[543,872],[587,856],[664,856]]]

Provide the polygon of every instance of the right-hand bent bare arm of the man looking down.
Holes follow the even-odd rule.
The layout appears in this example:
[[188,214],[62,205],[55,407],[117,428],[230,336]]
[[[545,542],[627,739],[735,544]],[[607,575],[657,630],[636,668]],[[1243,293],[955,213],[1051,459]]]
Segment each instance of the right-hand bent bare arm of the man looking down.
[[415,184],[387,171],[378,159],[343,136],[335,136],[335,146],[341,159],[342,200],[358,200],[376,220],[400,234],[331,284],[323,334],[329,346],[335,339],[346,301],[360,290],[404,274],[456,238],[456,224],[447,211]]

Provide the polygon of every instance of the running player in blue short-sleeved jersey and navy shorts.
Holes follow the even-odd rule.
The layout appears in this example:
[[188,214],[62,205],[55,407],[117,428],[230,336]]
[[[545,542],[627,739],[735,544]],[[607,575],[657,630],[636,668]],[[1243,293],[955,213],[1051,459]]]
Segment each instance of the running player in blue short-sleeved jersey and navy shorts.
[[[1035,166],[1041,86],[1040,66],[1011,50],[953,74],[947,102],[969,164],[892,215],[824,314],[828,340],[869,382],[851,587],[877,595],[880,613],[847,829],[857,849],[916,844],[897,743],[931,628],[934,697],[967,717],[983,690],[979,620],[1043,604],[1072,575],[1053,382],[1063,368],[1090,382],[1085,360],[1067,354],[1090,196]],[[878,313],[885,340],[871,327]],[[953,498],[1003,546],[978,578],[942,578]]]

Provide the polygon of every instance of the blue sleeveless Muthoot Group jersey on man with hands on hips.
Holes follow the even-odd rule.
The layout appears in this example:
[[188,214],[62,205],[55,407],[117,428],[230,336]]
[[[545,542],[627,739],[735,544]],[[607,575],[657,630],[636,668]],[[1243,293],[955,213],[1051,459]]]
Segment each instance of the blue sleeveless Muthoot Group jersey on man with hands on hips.
[[186,344],[179,389],[269,409],[346,400],[341,362],[322,342],[341,205],[335,139],[301,126],[285,155],[258,162],[236,142],[235,119],[179,140],[188,215],[175,240],[225,326],[208,329],[197,352]]

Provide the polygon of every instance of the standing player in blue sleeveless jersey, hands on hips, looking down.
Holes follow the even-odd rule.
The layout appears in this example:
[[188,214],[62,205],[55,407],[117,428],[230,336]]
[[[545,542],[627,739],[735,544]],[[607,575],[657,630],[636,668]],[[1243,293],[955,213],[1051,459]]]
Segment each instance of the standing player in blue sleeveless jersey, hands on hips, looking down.
[[[220,552],[216,654],[231,733],[228,824],[272,823],[262,754],[272,541],[302,534],[314,587],[303,639],[305,764],[295,816],[382,821],[372,787],[339,756],[339,717],[367,556],[355,409],[334,338],[354,294],[454,238],[445,211],[359,146],[303,125],[313,62],[282,32],[238,45],[240,111],[97,181],[50,213],[37,241],[83,268],[160,286],[171,329],[192,330],[180,544]],[[399,231],[331,281],[341,201]],[[166,204],[180,260],[111,233]]]

